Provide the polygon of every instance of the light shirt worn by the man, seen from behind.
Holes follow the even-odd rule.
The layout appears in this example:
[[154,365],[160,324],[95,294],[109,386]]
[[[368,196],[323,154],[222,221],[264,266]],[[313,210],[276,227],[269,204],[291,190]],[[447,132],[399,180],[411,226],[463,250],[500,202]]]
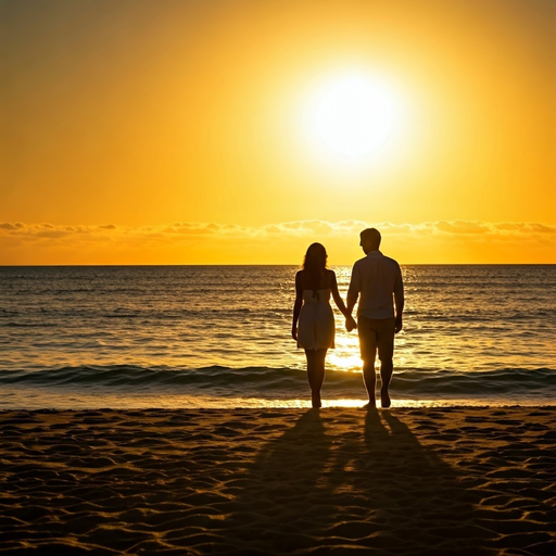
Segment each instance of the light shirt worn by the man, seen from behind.
[[403,299],[404,285],[400,265],[380,251],[369,251],[365,258],[353,265],[348,299],[357,299],[361,293],[357,316],[367,318],[392,318],[392,295]]

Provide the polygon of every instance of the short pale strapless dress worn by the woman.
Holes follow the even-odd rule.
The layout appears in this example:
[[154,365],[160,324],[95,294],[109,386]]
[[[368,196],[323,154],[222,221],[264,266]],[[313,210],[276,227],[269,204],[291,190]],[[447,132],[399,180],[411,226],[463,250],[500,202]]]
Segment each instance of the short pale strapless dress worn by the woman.
[[303,290],[298,348],[328,350],[334,346],[334,315],[330,306],[330,289]]

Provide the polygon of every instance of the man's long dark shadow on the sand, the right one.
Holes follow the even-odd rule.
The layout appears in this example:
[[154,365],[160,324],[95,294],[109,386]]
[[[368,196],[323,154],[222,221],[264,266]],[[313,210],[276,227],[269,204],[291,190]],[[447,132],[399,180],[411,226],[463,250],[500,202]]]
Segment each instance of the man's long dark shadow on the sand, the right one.
[[477,525],[476,492],[455,470],[427,450],[390,412],[365,418],[365,455],[355,465],[379,527],[377,542],[396,554],[492,554],[492,534]]

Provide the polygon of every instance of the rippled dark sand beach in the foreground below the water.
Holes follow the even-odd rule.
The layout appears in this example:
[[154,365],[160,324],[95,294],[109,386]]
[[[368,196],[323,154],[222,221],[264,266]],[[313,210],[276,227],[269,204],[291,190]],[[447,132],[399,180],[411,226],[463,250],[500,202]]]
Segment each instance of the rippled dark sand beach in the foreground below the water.
[[0,554],[556,554],[556,407],[0,413]]

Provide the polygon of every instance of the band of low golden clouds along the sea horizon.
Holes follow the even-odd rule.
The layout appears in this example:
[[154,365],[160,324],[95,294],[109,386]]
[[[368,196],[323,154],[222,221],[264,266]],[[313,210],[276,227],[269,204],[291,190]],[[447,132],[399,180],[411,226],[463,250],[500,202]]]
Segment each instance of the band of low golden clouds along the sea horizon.
[[556,225],[543,223],[294,220],[258,227],[177,222],[156,226],[0,223],[0,264],[295,264],[325,243],[330,264],[361,257],[375,226],[402,264],[556,263]]

